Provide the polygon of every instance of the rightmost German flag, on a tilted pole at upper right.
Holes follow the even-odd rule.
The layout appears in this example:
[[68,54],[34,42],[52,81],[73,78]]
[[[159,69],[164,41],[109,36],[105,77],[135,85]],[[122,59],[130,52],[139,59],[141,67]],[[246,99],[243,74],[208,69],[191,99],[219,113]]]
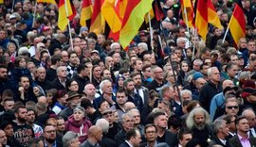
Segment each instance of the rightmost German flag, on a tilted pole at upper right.
[[236,45],[241,38],[246,37],[246,19],[240,0],[235,4],[229,21],[229,30]]

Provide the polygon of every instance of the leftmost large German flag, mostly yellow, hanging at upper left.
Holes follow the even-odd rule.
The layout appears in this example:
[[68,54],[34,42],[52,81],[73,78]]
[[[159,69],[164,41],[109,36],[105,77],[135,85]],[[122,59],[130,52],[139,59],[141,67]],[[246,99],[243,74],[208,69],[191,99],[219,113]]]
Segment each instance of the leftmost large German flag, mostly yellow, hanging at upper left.
[[64,31],[69,21],[68,18],[73,15],[73,10],[69,0],[59,0],[58,7],[59,7],[58,26],[61,30]]

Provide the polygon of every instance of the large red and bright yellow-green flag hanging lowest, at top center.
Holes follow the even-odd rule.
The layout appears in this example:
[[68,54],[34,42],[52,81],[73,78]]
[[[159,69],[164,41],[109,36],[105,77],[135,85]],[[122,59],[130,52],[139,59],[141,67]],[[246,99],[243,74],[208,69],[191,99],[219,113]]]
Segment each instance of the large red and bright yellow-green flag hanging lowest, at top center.
[[153,0],[130,0],[122,20],[119,42],[123,48],[137,35],[137,31],[144,22],[145,14],[152,8]]

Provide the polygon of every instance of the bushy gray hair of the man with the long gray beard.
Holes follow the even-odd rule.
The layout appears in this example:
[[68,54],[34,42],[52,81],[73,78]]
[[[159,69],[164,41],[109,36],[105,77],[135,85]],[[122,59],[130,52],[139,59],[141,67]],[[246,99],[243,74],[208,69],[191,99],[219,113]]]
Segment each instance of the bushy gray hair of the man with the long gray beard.
[[205,117],[205,123],[210,124],[210,115],[209,115],[209,113],[203,107],[195,107],[190,112],[190,114],[187,118],[187,121],[186,121],[187,127],[189,129],[192,129],[192,127],[194,126],[193,118],[194,118],[194,115],[197,114],[197,113],[203,113],[204,117]]

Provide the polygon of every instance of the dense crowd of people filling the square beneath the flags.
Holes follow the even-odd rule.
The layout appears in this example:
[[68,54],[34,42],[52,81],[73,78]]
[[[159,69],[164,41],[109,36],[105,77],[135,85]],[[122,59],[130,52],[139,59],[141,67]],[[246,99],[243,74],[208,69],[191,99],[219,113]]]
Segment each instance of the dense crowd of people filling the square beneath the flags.
[[79,15],[61,31],[56,5],[4,0],[0,147],[255,146],[256,1],[243,0],[238,44],[222,41],[234,2],[212,0],[223,28],[203,41],[179,0],[159,1],[153,39],[141,30],[122,48]]

